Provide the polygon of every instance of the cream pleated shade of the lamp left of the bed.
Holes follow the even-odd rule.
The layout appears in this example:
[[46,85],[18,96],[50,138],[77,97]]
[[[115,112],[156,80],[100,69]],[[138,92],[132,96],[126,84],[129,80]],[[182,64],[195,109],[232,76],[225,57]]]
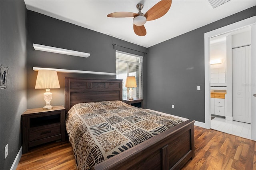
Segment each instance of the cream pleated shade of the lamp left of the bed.
[[38,70],[35,89],[60,88],[57,72],[54,70]]

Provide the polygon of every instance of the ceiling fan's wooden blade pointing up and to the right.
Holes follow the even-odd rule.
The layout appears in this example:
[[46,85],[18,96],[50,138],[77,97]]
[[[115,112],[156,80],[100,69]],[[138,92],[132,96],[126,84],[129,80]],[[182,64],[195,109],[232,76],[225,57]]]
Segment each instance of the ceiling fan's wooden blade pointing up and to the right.
[[161,0],[155,4],[144,16],[146,16],[147,21],[155,20],[164,16],[168,12],[172,5],[172,0]]

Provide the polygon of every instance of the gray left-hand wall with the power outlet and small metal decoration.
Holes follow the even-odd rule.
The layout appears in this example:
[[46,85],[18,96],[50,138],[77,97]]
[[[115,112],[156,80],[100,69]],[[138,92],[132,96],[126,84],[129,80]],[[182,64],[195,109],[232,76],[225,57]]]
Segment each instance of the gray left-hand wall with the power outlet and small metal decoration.
[[[26,36],[27,10],[24,1],[1,0],[1,64],[8,66],[7,89],[0,90],[0,161],[8,170],[22,145],[20,115],[27,108]],[[4,159],[4,147],[8,156]]]

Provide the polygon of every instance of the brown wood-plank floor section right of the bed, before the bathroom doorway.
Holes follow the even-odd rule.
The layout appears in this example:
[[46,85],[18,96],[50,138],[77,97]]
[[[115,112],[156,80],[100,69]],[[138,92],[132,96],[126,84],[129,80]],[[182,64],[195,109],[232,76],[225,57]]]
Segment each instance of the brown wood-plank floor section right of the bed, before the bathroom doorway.
[[256,170],[256,142],[195,126],[195,157],[182,170]]

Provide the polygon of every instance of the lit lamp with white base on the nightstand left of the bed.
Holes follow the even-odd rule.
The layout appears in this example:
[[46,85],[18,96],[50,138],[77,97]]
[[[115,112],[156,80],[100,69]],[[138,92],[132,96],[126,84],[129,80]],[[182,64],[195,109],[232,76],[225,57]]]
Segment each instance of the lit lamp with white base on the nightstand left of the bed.
[[46,105],[43,109],[52,108],[50,105],[52,100],[50,88],[60,88],[57,72],[54,70],[38,70],[35,89],[46,89],[46,92],[44,93],[44,101],[46,102]]

